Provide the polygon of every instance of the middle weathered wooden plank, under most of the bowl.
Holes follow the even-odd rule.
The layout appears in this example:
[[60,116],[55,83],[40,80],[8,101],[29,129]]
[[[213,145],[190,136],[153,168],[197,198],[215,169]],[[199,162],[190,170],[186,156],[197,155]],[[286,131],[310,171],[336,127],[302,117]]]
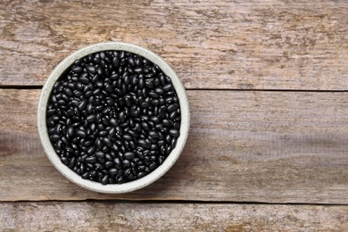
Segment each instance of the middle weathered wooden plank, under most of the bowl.
[[192,128],[162,179],[127,195],[71,184],[38,141],[39,90],[0,90],[0,201],[348,203],[346,93],[188,91]]

